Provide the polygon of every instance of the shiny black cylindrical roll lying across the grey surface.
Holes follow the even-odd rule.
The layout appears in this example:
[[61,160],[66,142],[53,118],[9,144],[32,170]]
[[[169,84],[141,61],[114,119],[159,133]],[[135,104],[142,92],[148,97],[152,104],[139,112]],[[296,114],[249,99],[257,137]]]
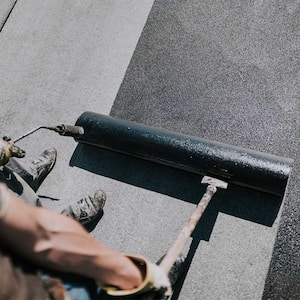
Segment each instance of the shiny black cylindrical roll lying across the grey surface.
[[84,112],[86,143],[229,183],[283,196],[293,160],[190,135]]

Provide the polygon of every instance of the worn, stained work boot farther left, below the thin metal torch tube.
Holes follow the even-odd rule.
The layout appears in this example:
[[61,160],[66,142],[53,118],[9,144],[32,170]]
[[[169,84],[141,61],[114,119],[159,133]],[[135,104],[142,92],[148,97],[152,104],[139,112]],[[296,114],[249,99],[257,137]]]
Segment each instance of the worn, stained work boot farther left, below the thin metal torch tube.
[[26,169],[15,159],[10,159],[5,167],[22,177],[36,192],[53,169],[56,162],[56,157],[56,149],[49,148],[41,153],[35,160],[33,160]]

